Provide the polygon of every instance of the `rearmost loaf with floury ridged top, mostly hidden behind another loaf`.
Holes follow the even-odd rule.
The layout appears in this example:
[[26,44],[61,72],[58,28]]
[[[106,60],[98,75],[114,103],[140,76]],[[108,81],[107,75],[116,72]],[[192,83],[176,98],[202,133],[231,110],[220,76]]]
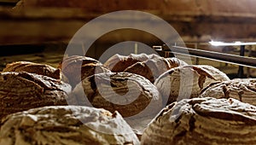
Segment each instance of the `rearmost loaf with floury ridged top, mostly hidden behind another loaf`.
[[137,62],[143,62],[147,61],[148,59],[156,59],[159,58],[158,55],[146,55],[146,54],[140,54],[140,55],[113,55],[104,63],[104,66],[108,67],[112,72],[118,73],[118,72],[124,72],[127,67],[130,67],[131,65],[137,63]]

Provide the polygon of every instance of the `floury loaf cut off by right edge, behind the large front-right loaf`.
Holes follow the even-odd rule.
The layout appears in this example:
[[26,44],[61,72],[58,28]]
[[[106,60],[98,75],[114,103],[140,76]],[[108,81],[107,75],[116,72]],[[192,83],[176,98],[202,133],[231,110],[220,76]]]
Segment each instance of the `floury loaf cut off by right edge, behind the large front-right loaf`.
[[200,97],[235,98],[256,105],[256,78],[236,78],[209,84]]

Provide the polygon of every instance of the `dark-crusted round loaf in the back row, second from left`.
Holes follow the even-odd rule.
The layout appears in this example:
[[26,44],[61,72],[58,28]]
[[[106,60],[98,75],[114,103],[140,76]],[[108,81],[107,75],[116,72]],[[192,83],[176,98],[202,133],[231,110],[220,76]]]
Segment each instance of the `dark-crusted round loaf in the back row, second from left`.
[[67,76],[69,84],[71,84],[73,88],[79,84],[81,80],[89,77],[90,75],[110,72],[100,61],[79,55],[73,55],[65,58],[59,68],[61,68],[61,72]]

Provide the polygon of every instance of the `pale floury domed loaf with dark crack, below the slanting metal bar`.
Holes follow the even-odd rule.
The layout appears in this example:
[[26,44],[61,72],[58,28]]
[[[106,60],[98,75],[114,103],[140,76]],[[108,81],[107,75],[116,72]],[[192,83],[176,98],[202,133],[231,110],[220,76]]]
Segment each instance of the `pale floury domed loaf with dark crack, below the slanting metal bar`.
[[200,95],[208,84],[230,80],[226,74],[207,65],[175,67],[160,75],[154,85],[163,97],[163,103],[170,104]]

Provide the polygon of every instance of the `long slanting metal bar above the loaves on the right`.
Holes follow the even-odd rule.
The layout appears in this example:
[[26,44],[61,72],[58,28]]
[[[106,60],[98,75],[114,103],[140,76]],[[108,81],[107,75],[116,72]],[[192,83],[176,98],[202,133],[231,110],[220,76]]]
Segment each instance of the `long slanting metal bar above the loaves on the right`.
[[162,49],[158,49],[158,52],[163,51],[163,52],[169,52],[169,53],[179,54],[179,55],[189,55],[189,56],[195,56],[195,57],[204,58],[212,61],[222,61],[230,64],[235,64],[238,66],[256,68],[256,58],[253,58],[253,57],[223,54],[223,53],[214,52],[214,51],[190,49],[190,48],[185,48],[180,46],[171,46],[171,47],[172,49],[170,49],[167,45],[164,45]]

